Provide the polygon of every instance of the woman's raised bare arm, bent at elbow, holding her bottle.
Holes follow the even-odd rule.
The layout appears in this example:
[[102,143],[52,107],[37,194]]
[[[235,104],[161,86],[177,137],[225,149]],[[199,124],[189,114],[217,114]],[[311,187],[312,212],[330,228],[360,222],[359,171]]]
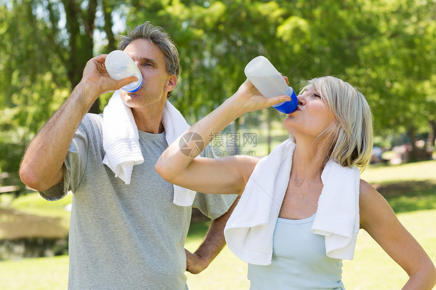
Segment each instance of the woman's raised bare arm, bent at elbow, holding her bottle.
[[[287,77],[284,77],[287,80]],[[220,107],[198,121],[173,142],[156,163],[156,171],[168,182],[204,193],[241,194],[259,161],[256,157],[232,156],[201,158],[187,154],[196,147],[198,153],[233,120],[242,114],[289,100],[288,96],[264,98],[250,81]],[[183,138],[180,143],[180,138]],[[183,144],[183,148],[180,148]]]

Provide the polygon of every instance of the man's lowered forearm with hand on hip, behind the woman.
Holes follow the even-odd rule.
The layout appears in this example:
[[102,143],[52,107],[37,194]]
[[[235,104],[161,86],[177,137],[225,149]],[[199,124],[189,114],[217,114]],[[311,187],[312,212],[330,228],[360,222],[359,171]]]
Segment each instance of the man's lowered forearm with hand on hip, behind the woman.
[[207,234],[195,253],[186,252],[186,270],[193,274],[198,274],[209,266],[213,259],[223,250],[226,245],[224,238],[224,228],[227,220],[230,218],[236,204],[239,201],[239,196],[233,202],[230,209],[221,217],[212,220]]

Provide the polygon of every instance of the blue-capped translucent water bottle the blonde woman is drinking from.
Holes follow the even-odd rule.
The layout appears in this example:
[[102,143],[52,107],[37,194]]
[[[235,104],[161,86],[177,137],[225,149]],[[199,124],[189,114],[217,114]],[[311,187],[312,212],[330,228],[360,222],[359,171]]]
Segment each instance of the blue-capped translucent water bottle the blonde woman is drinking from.
[[264,56],[252,59],[244,69],[245,75],[251,83],[265,98],[272,98],[280,95],[288,95],[291,100],[273,105],[282,113],[289,114],[298,106],[297,95],[286,81],[275,69],[271,62]]

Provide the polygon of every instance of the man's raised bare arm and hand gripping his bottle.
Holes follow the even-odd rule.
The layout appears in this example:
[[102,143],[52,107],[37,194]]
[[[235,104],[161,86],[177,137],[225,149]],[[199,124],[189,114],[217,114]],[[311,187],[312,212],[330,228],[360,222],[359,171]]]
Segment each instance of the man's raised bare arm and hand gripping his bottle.
[[28,146],[20,166],[20,178],[29,187],[44,191],[63,179],[63,162],[74,134],[98,96],[136,80],[112,79],[103,66],[106,55],[89,60],[79,85],[48,120]]

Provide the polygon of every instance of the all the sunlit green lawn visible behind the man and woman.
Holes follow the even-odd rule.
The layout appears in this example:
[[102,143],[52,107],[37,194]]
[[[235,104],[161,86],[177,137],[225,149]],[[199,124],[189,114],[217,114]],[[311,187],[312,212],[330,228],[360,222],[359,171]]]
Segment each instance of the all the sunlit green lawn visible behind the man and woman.
[[[422,245],[433,263],[436,263],[436,161],[370,167],[362,174],[362,179],[375,185],[385,196],[398,219]],[[11,204],[14,208],[34,214],[43,211],[54,214],[63,209],[62,203],[53,205],[41,200],[39,196],[28,195],[12,201]],[[33,206],[34,204],[38,206]],[[188,250],[195,251],[207,228],[207,222],[191,226],[186,241]],[[67,256],[0,262],[2,289],[65,289],[67,275]],[[187,276],[190,290],[249,288],[247,264],[233,255],[228,247],[202,273],[187,273]],[[345,287],[348,290],[399,289],[407,278],[403,269],[364,230],[360,230],[353,261],[344,261]]]

